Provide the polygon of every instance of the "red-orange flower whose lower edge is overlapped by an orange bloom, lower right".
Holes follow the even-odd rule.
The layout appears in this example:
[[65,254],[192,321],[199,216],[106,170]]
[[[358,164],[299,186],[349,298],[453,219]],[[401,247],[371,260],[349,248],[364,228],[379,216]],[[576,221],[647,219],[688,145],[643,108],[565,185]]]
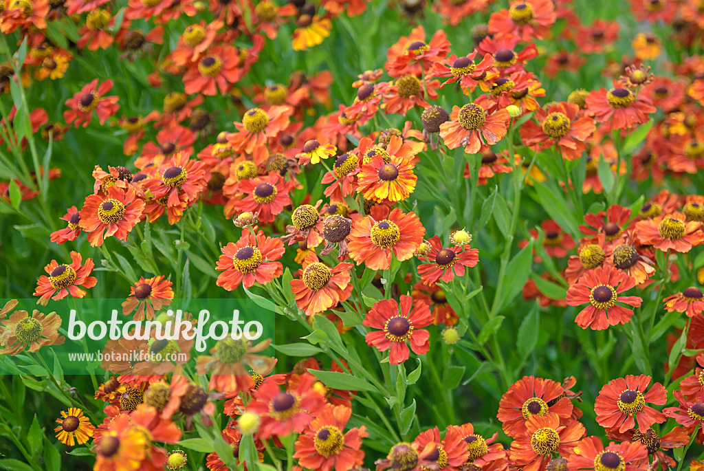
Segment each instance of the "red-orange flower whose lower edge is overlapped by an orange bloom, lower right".
[[505,434],[517,439],[526,433],[530,417],[546,414],[566,424],[572,416],[572,402],[565,389],[552,379],[524,376],[512,384],[498,403],[498,420]]

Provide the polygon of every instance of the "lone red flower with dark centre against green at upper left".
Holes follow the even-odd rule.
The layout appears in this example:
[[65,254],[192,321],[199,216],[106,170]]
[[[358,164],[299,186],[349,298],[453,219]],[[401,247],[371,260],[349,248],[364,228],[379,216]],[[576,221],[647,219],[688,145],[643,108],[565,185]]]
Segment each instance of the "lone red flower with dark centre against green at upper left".
[[98,87],[98,79],[84,85],[80,92],[73,95],[73,98],[66,100],[66,106],[71,108],[63,112],[66,124],[73,123],[75,127],[82,124],[86,127],[90,123],[93,111],[98,115],[100,124],[105,124],[105,121],[120,109],[117,96],[103,96],[111,88],[113,88],[112,80],[106,80],[100,84],[100,87]]

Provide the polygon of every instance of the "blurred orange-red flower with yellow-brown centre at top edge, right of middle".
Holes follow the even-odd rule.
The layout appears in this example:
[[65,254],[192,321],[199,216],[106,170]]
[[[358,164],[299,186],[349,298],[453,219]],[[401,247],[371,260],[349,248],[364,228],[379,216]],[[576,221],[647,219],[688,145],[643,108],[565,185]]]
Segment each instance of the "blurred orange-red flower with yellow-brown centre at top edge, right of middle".
[[498,38],[516,36],[524,42],[543,39],[556,19],[551,0],[517,0],[508,10],[491,13],[489,34]]

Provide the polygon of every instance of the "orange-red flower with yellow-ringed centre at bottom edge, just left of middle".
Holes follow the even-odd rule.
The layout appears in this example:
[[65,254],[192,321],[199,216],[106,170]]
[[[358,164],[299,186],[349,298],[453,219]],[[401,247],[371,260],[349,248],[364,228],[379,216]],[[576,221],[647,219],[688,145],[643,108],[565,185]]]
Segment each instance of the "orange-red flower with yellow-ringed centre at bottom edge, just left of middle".
[[364,462],[362,438],[367,437],[364,426],[344,433],[352,415],[346,406],[328,405],[310,427],[296,440],[294,458],[301,467],[320,471],[348,471]]

